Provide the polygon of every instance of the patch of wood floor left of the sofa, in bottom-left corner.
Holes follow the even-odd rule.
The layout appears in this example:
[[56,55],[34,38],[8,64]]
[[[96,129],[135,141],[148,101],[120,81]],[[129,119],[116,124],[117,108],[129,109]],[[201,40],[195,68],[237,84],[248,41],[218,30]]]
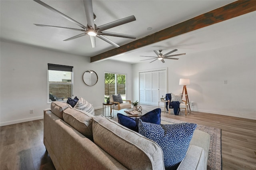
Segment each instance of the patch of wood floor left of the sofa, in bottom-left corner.
[[1,170],[55,170],[43,144],[43,120],[0,127]]

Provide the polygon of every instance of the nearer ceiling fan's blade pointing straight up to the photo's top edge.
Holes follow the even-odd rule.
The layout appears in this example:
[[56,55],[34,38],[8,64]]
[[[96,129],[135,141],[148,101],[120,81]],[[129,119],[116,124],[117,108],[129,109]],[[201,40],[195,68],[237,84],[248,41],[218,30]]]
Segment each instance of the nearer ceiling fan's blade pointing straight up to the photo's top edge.
[[89,27],[89,29],[90,27],[92,27],[92,29],[95,30],[92,0],[84,0],[84,10],[87,20],[87,26]]

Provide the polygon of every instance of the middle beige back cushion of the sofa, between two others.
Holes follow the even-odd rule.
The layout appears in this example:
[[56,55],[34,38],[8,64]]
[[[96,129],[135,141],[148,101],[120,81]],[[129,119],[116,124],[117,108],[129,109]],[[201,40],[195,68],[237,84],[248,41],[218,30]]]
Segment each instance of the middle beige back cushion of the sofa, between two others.
[[94,116],[85,111],[67,108],[63,111],[63,119],[78,132],[93,141],[92,120]]

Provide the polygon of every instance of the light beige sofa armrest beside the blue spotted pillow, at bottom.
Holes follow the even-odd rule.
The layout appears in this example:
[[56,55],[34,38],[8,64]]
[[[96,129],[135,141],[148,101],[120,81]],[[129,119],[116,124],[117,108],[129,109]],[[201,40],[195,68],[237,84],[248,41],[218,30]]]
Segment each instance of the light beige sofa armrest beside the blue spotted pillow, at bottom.
[[203,148],[190,145],[186,157],[182,160],[177,170],[206,170],[204,157]]

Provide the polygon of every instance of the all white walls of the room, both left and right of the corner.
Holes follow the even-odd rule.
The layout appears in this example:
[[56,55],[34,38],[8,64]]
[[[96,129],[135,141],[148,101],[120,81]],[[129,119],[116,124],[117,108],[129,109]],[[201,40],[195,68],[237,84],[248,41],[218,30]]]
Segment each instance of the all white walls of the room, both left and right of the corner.
[[[90,63],[83,56],[6,42],[0,45],[0,126],[43,118],[43,110],[50,108],[47,63],[74,66],[74,96],[88,100],[95,109],[102,108],[104,101],[104,71],[127,73],[127,99],[136,101],[138,71],[168,67],[168,92],[182,93],[179,79],[190,78],[192,110],[256,119],[255,41],[191,53],[166,63],[135,65],[108,60]],[[92,87],[82,80],[88,69],[99,78]]]

